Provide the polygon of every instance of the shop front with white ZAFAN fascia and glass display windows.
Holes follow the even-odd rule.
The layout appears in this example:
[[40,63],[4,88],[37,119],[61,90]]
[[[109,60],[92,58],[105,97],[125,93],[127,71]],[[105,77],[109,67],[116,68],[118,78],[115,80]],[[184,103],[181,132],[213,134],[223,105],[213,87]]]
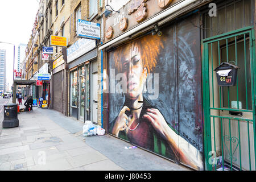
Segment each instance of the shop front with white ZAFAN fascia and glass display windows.
[[77,40],[67,49],[67,59],[69,68],[69,116],[83,122],[90,120],[97,123],[96,41],[89,39]]

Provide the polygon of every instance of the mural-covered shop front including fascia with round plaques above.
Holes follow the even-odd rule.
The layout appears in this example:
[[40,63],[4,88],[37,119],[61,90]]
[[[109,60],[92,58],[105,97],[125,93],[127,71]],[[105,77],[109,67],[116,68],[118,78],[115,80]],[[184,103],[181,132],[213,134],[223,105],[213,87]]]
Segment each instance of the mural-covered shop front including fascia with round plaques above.
[[[175,3],[164,5],[170,7],[164,12],[176,9]],[[193,10],[195,4],[183,7]],[[163,19],[156,1],[129,12],[133,6],[130,1],[118,10],[120,23],[114,23],[118,14],[106,20],[106,42],[99,48],[104,127],[114,137],[203,170],[200,13]],[[135,32],[133,25],[141,29]]]

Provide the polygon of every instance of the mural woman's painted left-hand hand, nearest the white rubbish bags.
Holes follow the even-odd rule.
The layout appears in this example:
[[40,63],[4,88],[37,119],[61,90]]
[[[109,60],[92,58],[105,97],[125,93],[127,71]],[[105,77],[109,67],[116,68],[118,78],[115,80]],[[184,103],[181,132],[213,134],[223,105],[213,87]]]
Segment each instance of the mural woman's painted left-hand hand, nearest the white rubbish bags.
[[125,111],[130,111],[129,107],[123,106],[122,110],[118,114],[117,119],[115,120],[115,124],[112,130],[112,134],[118,137],[119,131],[123,131],[127,129],[128,117],[125,114]]

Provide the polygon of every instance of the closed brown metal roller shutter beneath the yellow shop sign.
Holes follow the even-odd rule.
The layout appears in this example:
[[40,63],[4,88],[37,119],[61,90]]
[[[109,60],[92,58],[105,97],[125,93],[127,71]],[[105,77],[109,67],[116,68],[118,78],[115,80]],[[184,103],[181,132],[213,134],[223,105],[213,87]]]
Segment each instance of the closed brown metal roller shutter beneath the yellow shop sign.
[[63,111],[63,71],[53,75],[53,109]]

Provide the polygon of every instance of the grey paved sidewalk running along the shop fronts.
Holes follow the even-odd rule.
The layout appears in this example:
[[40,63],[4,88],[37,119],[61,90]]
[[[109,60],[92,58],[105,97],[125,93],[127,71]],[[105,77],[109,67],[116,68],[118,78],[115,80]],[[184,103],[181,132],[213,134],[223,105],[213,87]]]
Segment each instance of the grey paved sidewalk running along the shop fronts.
[[111,135],[82,137],[84,123],[55,110],[33,107],[18,119],[0,133],[0,170],[189,170]]

